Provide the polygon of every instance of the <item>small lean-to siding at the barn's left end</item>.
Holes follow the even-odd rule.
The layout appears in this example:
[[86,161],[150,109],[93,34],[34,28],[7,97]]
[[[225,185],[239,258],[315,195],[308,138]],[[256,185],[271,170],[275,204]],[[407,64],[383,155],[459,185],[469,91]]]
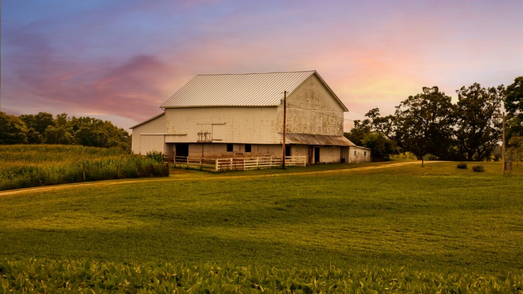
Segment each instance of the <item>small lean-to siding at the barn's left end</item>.
[[[152,149],[157,149],[158,147],[154,144],[158,141],[157,138],[154,137],[144,137],[142,134],[164,134],[165,133],[165,115],[157,117],[151,121],[148,121],[144,123],[141,126],[138,126],[134,129],[132,129],[132,141],[131,141],[131,150],[134,154],[143,154],[147,153],[147,151],[151,151]],[[154,142],[147,143],[145,141],[153,140]],[[142,142],[142,140],[144,142]],[[162,136],[162,142],[163,142],[163,136]],[[142,150],[142,144],[144,146],[144,150]],[[161,150],[163,152],[163,148]]]

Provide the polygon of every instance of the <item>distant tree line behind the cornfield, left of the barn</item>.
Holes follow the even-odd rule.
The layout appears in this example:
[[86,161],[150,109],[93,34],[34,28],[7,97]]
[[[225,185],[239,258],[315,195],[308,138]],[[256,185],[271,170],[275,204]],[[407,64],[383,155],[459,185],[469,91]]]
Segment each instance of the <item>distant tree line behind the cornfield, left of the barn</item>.
[[0,112],[0,144],[77,144],[131,150],[131,135],[108,120],[48,112],[7,115]]

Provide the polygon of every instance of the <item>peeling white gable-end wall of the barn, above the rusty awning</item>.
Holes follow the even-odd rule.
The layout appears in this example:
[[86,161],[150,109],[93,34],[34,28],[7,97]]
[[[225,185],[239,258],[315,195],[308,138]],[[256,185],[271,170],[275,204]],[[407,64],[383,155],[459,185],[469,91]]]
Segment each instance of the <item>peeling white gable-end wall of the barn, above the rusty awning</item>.
[[[343,112],[331,92],[312,75],[287,97],[287,132],[343,135]],[[277,126],[282,132],[283,106],[278,107]]]

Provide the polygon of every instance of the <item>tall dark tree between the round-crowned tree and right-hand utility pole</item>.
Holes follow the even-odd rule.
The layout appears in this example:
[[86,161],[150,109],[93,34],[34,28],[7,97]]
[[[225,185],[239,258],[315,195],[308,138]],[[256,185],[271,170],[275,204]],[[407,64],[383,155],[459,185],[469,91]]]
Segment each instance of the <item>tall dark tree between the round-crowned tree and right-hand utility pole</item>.
[[505,87],[484,88],[478,83],[461,87],[454,111],[454,135],[459,152],[468,161],[490,157],[501,139],[501,103]]

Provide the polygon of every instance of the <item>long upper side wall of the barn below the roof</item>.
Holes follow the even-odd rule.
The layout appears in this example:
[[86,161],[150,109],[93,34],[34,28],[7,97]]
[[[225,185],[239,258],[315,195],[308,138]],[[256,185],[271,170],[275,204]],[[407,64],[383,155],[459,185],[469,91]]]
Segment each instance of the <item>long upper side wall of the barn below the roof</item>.
[[277,144],[276,107],[167,108],[166,142]]

